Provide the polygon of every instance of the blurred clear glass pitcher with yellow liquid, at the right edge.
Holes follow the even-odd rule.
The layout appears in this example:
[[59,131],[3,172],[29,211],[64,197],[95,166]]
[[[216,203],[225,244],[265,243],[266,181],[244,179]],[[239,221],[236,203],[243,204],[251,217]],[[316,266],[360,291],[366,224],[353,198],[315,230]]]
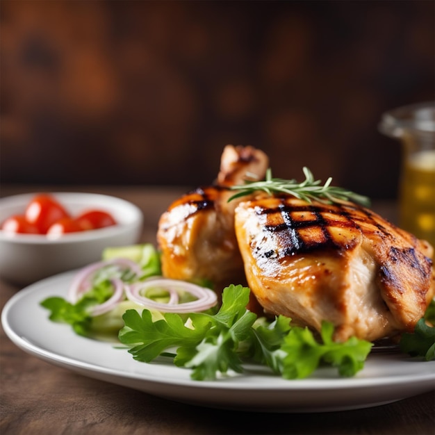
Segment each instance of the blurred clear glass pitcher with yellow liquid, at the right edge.
[[390,110],[379,130],[402,142],[399,226],[435,247],[435,102]]

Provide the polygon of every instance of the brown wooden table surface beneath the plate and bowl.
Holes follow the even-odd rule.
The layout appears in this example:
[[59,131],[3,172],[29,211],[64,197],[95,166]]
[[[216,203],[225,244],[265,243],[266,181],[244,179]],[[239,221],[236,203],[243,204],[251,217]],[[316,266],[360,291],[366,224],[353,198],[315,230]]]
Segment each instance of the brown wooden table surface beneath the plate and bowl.
[[[154,243],[158,216],[184,189],[2,186],[0,195],[68,190],[106,193],[137,204],[145,215],[142,241]],[[394,204],[373,208],[394,220]],[[20,288],[4,281],[0,285],[3,309]],[[163,400],[53,366],[19,350],[3,329],[0,339],[2,435],[435,434],[434,391],[354,411],[222,411]]]

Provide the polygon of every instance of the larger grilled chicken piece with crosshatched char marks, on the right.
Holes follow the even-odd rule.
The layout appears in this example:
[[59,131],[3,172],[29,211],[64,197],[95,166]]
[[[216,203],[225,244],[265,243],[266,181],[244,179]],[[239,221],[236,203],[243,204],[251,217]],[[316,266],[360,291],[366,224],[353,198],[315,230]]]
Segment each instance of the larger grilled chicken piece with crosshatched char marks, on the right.
[[249,287],[265,312],[335,340],[412,331],[434,295],[433,248],[352,203],[290,196],[242,202],[236,236]]

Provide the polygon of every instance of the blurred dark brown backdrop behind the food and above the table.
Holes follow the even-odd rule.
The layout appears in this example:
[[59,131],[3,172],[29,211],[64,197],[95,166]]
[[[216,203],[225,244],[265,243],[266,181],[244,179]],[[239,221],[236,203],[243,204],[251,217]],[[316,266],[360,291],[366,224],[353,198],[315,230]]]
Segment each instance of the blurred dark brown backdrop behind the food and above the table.
[[10,1],[1,183],[197,186],[224,145],[396,195],[381,113],[435,98],[434,1]]

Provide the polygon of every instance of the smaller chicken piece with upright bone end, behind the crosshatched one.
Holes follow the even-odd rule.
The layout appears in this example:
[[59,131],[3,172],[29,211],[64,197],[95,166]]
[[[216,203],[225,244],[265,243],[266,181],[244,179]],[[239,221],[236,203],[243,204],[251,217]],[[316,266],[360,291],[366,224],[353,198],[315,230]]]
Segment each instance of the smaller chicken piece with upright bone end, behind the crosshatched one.
[[234,208],[228,203],[234,184],[243,184],[246,174],[263,179],[268,157],[253,147],[227,145],[214,186],[197,188],[163,213],[157,241],[165,277],[213,283],[217,293],[229,284],[245,284],[243,261],[234,232]]

